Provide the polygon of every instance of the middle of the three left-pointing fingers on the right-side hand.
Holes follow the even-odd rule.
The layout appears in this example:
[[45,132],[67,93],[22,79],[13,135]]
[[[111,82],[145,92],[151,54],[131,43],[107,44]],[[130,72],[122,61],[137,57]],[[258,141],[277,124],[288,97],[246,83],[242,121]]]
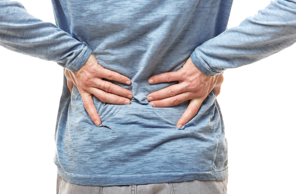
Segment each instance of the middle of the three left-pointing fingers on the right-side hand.
[[186,88],[183,86],[183,84],[179,83],[149,94],[147,96],[147,100],[148,101],[160,100],[163,98],[176,96],[177,94],[182,92],[186,92]]

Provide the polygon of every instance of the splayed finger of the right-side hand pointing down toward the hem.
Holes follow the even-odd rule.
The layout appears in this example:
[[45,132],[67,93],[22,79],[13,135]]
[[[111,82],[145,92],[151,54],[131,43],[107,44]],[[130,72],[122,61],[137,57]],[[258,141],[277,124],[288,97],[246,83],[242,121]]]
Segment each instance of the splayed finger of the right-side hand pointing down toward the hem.
[[183,125],[187,124],[197,114],[203,101],[204,99],[202,98],[191,99],[186,111],[183,113],[176,126],[182,128]]

